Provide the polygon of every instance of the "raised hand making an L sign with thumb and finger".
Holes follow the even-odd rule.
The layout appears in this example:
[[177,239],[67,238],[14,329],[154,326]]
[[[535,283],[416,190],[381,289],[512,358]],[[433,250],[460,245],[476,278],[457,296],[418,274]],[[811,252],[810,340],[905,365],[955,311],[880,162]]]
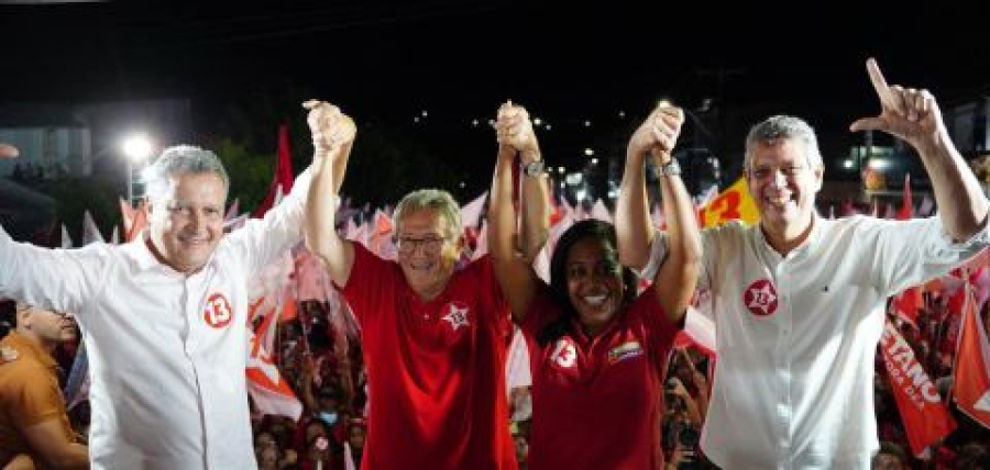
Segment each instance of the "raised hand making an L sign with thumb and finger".
[[944,132],[942,112],[928,90],[888,86],[877,60],[867,59],[867,72],[880,99],[880,115],[854,122],[850,131],[883,131],[915,148],[936,142]]

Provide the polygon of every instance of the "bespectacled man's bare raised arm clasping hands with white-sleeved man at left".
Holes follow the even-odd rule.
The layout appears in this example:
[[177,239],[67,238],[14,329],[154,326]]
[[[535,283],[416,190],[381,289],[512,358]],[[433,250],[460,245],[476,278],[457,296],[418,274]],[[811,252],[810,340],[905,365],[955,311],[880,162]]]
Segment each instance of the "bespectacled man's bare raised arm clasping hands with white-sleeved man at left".
[[306,121],[316,147],[304,224],[306,246],[323,261],[333,283],[344,286],[354,264],[354,247],[337,233],[336,201],[356,128],[332,104],[307,101],[304,105],[309,109]]

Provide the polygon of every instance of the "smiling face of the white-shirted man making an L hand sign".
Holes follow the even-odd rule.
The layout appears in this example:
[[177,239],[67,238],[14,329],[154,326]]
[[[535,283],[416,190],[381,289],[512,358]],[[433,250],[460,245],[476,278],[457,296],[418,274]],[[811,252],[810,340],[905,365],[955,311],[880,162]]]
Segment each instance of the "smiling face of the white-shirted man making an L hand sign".
[[823,168],[813,166],[800,141],[788,138],[755,143],[749,165],[747,184],[765,231],[782,242],[805,234],[812,224],[815,194],[822,189]]

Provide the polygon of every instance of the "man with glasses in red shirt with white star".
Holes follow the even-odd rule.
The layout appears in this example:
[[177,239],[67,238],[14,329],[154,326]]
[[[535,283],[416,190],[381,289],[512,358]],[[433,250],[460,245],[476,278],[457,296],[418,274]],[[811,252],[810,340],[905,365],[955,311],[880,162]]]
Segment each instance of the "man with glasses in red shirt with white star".
[[361,327],[371,403],[365,469],[514,469],[505,357],[508,305],[488,257],[458,269],[460,206],[447,191],[395,209],[396,260],[342,238],[341,169],[314,163],[306,243]]

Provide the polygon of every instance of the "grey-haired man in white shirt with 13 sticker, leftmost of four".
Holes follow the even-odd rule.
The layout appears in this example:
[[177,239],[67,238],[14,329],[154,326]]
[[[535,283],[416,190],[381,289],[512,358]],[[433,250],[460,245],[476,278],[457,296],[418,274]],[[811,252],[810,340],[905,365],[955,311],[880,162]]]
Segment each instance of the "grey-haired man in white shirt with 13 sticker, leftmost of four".
[[[350,118],[308,102],[314,158],[346,160]],[[0,295],[76,312],[89,355],[94,468],[252,469],[248,280],[301,240],[309,171],[264,219],[223,234],[213,153],[166,148],[145,170],[148,230],[120,245],[43,249],[0,228]]]

